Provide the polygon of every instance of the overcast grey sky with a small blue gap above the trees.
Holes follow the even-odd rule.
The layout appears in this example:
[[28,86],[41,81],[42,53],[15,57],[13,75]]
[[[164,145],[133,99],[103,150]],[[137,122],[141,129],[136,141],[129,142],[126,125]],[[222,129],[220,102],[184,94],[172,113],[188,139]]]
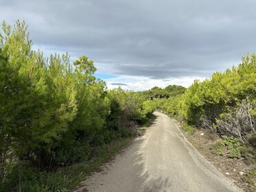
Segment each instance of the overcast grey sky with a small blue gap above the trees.
[[189,86],[256,48],[255,0],[0,0],[45,56],[86,55],[108,87]]

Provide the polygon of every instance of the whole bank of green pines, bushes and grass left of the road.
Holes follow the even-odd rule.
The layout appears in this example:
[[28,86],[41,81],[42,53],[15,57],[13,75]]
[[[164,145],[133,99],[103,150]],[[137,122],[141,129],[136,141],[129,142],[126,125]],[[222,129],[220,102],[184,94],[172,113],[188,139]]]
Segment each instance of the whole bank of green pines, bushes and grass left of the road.
[[124,148],[150,113],[107,91],[86,56],[32,50],[27,25],[0,34],[0,191],[68,191]]

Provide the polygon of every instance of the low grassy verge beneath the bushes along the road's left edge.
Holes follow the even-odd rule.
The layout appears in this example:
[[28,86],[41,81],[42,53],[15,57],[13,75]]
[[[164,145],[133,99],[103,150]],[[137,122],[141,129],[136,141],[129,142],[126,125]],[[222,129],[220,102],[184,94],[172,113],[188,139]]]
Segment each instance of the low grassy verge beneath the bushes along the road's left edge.
[[86,176],[89,176],[91,171],[99,169],[106,159],[111,158],[130,142],[131,139],[111,141],[108,145],[98,147],[91,160],[62,167],[57,171],[38,171],[26,164],[16,165],[1,183],[0,192],[72,191],[71,189],[80,184]]

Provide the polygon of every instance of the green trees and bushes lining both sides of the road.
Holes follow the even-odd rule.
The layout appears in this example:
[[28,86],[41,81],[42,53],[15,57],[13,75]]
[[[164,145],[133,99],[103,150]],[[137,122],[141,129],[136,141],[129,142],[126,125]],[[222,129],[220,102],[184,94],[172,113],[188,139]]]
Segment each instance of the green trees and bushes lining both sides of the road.
[[24,22],[3,23],[2,32],[0,191],[68,191],[67,167],[81,171],[79,163],[137,136],[154,110],[245,146],[233,157],[256,156],[256,54],[189,88],[134,93],[108,90],[86,56],[34,51]]

